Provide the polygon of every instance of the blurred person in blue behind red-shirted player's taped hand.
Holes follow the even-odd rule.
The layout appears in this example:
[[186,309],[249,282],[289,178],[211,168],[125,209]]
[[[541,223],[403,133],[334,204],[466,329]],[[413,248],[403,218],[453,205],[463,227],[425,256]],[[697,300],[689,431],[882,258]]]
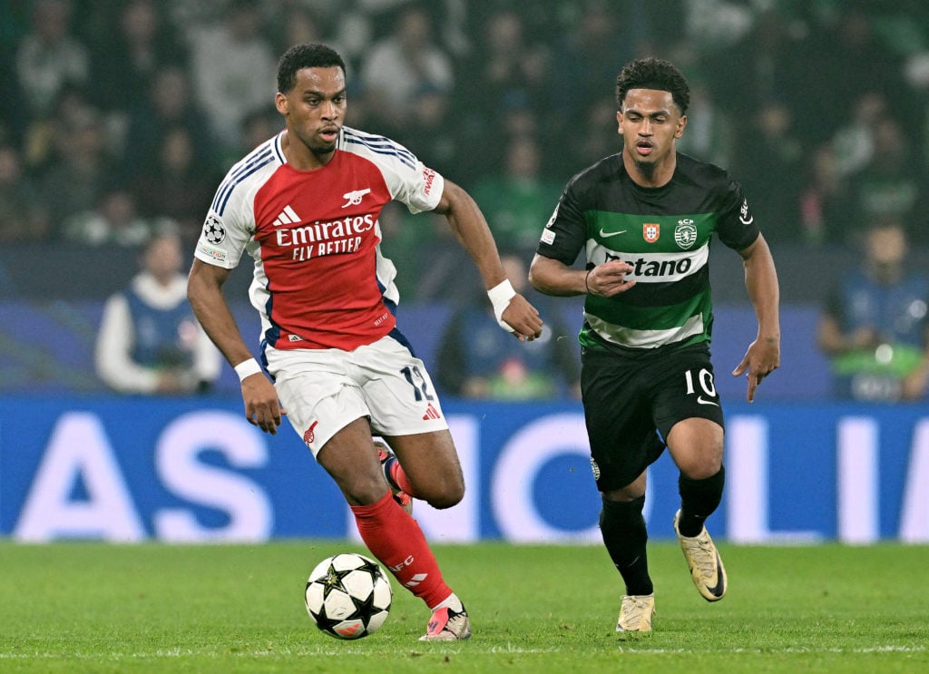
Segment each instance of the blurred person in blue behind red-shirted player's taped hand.
[[[543,295],[530,289],[523,259],[512,253],[500,257],[517,292],[527,292],[533,304],[547,304]],[[580,397],[580,347],[576,336],[558,320],[555,308],[543,312],[541,337],[519,343],[500,331],[483,292],[456,306],[439,344],[438,384],[449,394],[466,398]]]

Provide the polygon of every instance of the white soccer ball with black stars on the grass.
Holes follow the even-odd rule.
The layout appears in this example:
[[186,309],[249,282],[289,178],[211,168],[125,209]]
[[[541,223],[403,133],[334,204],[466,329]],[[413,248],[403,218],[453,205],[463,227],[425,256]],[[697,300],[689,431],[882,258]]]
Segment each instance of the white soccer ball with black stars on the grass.
[[384,625],[393,591],[373,560],[343,552],[321,561],[307,579],[307,613],[336,639],[360,639]]

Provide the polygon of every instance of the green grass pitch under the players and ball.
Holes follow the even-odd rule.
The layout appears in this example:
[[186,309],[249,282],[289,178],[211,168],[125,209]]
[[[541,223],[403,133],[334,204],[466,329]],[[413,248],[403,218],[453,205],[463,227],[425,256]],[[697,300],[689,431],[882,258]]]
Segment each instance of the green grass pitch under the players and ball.
[[652,543],[656,630],[623,641],[601,547],[437,546],[474,627],[441,644],[417,641],[428,613],[396,582],[373,636],[339,642],[312,625],[307,574],[364,551],[350,543],[0,541],[0,671],[929,671],[929,548],[720,549],[729,590],[711,604],[676,543]]

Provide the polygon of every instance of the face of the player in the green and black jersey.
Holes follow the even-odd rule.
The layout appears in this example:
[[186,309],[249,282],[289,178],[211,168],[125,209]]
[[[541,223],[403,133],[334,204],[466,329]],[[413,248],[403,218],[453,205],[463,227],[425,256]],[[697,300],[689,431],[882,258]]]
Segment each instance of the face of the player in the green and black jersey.
[[630,89],[616,113],[626,156],[643,168],[661,164],[674,153],[674,141],[684,134],[687,116],[674,105],[671,92]]

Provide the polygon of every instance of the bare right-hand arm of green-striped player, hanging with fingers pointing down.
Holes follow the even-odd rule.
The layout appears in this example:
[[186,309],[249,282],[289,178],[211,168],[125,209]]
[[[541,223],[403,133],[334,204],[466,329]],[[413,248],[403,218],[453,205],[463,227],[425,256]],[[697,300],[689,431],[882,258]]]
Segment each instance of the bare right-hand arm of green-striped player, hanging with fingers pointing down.
[[745,288],[758,317],[758,336],[732,374],[748,377],[745,397],[751,403],[758,384],[780,365],[780,291],[774,258],[762,235],[739,254],[745,266]]

